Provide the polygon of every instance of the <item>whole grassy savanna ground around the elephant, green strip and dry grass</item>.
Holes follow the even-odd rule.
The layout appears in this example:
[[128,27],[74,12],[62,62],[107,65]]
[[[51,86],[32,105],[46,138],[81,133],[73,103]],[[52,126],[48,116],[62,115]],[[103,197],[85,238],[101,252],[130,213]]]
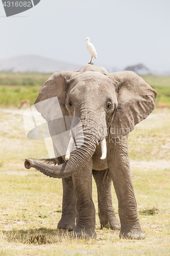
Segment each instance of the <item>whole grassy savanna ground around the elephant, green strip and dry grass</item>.
[[[100,229],[98,200],[96,239],[76,239],[57,230],[62,210],[62,182],[25,169],[24,159],[47,158],[43,141],[26,137],[24,99],[31,104],[49,74],[0,72],[0,255],[169,255],[170,254],[170,111],[155,109],[128,138],[138,215],[144,240],[119,239],[119,231]],[[170,102],[170,77],[143,77]],[[112,201],[118,217],[114,188]],[[78,251],[78,252],[76,252]]]

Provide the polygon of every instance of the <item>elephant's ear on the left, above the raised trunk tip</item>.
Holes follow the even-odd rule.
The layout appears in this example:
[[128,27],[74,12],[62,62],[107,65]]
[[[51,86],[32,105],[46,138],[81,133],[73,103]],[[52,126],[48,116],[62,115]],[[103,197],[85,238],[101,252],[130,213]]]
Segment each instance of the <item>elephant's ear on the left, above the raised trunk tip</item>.
[[[46,121],[50,121],[50,119],[52,119],[50,116],[51,113],[53,115],[57,114],[56,112],[59,111],[55,109],[57,104],[59,105],[62,115],[68,116],[68,112],[65,108],[65,100],[68,90],[68,81],[74,74],[75,72],[71,71],[56,72],[41,87],[34,104],[38,112],[41,113],[42,117]],[[42,103],[40,103],[41,101]]]

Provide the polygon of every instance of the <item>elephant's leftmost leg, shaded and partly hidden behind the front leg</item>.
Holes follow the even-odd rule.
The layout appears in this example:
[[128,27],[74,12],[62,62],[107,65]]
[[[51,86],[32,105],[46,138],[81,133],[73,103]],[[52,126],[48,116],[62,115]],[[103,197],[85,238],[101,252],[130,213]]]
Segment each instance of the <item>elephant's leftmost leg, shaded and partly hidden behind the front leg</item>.
[[63,202],[62,216],[58,223],[59,229],[74,230],[76,227],[76,196],[74,193],[74,185],[72,177],[62,179],[63,184]]

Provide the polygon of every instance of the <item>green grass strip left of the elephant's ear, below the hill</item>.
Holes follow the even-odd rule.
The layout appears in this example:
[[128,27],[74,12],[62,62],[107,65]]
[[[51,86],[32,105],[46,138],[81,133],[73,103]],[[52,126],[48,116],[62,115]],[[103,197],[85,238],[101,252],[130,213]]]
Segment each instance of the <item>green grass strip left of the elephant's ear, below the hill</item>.
[[34,104],[42,84],[52,74],[0,72],[0,105],[18,107],[22,100]]

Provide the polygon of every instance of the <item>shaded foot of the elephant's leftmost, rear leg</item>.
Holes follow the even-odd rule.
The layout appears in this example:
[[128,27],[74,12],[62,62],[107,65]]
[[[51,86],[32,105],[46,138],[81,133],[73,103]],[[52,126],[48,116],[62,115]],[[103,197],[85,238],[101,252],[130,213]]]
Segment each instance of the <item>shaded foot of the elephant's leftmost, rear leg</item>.
[[70,217],[68,215],[62,216],[57,226],[58,229],[67,229],[68,231],[74,230],[76,227],[75,219],[76,218]]

